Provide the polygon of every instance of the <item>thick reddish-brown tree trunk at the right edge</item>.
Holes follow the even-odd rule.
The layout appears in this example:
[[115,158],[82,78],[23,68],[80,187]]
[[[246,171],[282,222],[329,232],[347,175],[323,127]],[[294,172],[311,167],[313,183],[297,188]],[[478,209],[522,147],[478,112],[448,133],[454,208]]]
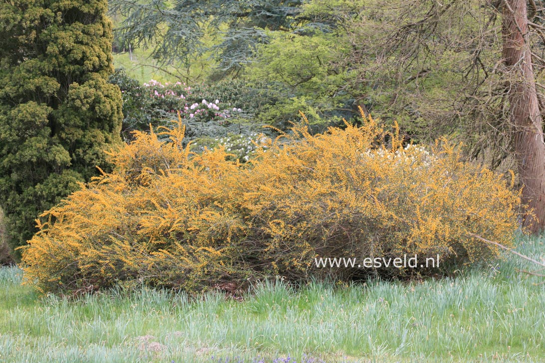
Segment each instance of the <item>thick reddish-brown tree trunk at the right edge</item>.
[[537,100],[532,57],[528,45],[526,0],[507,0],[503,18],[503,56],[508,68],[509,101],[514,124],[513,146],[528,205],[523,225],[534,233],[545,225],[545,144]]

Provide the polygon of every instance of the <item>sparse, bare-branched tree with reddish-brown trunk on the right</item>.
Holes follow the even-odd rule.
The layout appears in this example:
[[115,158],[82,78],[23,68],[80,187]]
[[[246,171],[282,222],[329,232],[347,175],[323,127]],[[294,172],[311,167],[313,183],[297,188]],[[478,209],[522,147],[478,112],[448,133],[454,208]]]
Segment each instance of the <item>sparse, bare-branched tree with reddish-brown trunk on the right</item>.
[[347,11],[352,51],[343,60],[372,114],[401,118],[420,137],[463,139],[470,157],[492,155],[492,167],[513,159],[526,205],[523,224],[532,232],[545,226],[540,4],[362,0],[357,11]]

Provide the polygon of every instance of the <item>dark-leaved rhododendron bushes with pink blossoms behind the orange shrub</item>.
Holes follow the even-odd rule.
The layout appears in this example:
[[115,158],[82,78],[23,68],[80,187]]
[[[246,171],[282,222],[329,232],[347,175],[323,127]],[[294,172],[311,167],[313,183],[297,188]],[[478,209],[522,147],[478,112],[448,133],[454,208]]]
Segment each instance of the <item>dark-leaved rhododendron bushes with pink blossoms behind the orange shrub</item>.
[[[249,133],[251,120],[265,97],[240,81],[215,85],[161,83],[151,80],[140,84],[117,69],[110,82],[123,94],[123,132],[148,130],[149,124],[169,125],[180,114],[187,127],[186,139],[224,137],[228,133]],[[259,125],[256,125],[259,126]]]

